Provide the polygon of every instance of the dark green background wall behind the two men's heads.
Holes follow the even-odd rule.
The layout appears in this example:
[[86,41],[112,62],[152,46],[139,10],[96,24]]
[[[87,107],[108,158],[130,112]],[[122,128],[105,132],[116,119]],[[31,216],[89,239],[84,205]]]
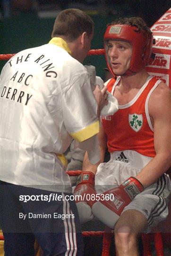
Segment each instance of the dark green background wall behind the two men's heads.
[[[95,31],[91,49],[103,48],[103,34],[106,25],[114,17],[93,15]],[[55,18],[38,18],[34,13],[20,14],[13,18],[6,18],[0,23],[0,54],[17,53],[23,49],[40,46],[51,39],[51,31]],[[96,67],[96,73],[103,78],[106,67],[104,55],[88,56],[85,59],[91,61]],[[0,61],[0,71],[6,61]]]

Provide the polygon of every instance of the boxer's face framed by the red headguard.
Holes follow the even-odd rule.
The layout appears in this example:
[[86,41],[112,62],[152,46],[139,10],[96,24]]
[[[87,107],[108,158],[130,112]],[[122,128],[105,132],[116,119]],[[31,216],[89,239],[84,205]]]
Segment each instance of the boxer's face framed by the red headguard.
[[124,74],[130,66],[132,46],[128,42],[118,40],[109,40],[107,46],[113,73]]

